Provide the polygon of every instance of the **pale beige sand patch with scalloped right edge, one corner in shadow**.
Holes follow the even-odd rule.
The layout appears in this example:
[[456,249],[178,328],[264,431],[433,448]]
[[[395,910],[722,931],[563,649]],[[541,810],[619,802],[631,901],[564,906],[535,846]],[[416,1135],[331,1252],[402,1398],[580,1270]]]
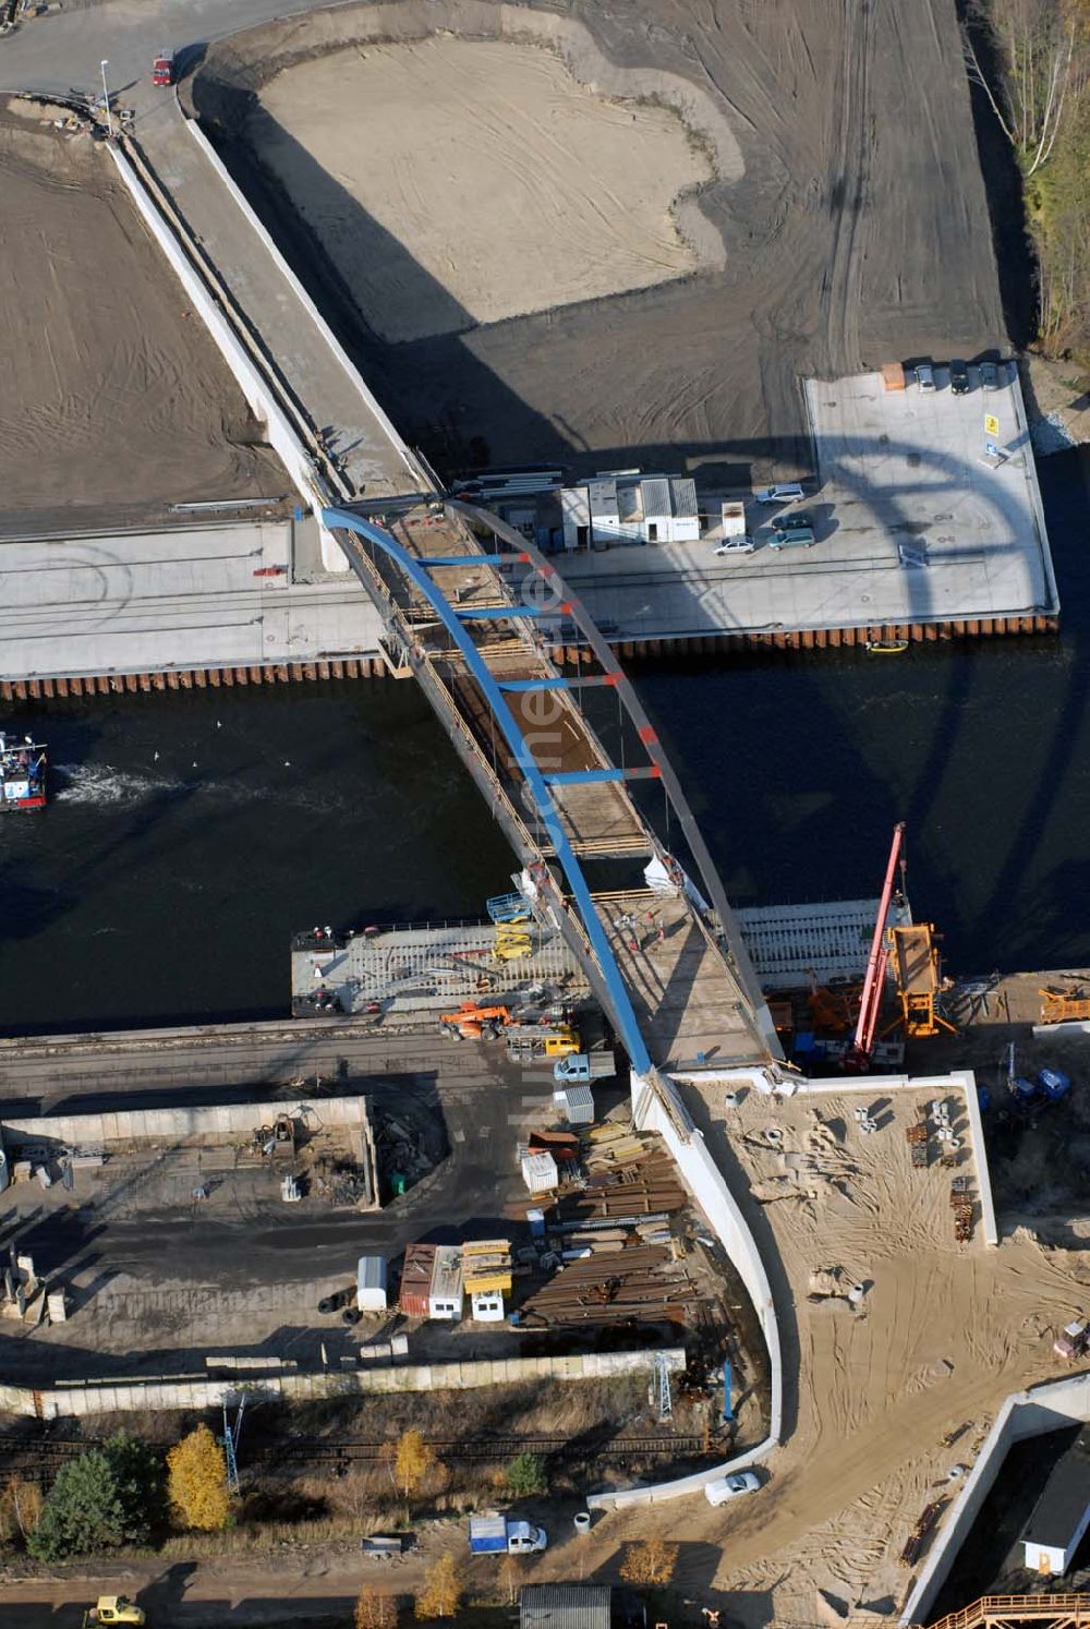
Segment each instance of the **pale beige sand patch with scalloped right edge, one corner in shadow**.
[[446,36],[316,57],[272,80],[249,138],[383,339],[697,266],[671,204],[709,160],[675,114],[603,101],[549,50]]

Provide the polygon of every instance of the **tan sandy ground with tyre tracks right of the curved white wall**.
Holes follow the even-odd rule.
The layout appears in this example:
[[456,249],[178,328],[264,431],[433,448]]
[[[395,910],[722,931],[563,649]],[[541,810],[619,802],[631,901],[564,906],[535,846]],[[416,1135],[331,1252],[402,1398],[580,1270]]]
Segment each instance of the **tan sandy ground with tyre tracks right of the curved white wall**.
[[[730,1148],[717,1096],[707,1093],[709,1145],[735,1181],[771,1201],[751,1197],[746,1210],[780,1315],[789,1435],[767,1491],[725,1513],[684,1507],[679,1577],[712,1583],[705,1551],[722,1546],[714,1587],[728,1592],[732,1621],[753,1629],[772,1616],[816,1621],[816,1590],[888,1609],[908,1592],[898,1556],[924,1505],[956,1492],[952,1466],[971,1463],[1010,1391],[1061,1372],[1051,1342],[1085,1298],[1090,1254],[1049,1249],[1002,1217],[997,1249],[979,1233],[955,1241],[953,1173],[912,1170],[904,1139],[930,1093],[886,1098],[873,1137],[860,1137],[852,1116],[868,1100],[777,1108],[748,1095],[732,1111]],[[782,1132],[782,1152],[764,1140],[767,1126]],[[798,1184],[784,1181],[792,1166]],[[772,1197],[795,1186],[800,1197]],[[868,1285],[859,1310],[808,1298],[811,1272],[837,1267]],[[969,1420],[943,1448],[943,1434]],[[611,1517],[598,1538],[616,1543],[639,1523]]]

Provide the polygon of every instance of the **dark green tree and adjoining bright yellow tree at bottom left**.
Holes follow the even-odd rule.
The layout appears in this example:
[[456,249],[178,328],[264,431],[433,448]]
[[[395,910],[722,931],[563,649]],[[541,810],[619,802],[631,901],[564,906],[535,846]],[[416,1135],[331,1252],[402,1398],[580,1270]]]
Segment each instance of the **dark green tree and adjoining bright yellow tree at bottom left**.
[[44,1499],[21,1478],[0,1497],[5,1535],[18,1533],[39,1561],[143,1546],[168,1523],[212,1531],[230,1520],[226,1458],[207,1425],[174,1443],[166,1461],[117,1432],[62,1466]]

